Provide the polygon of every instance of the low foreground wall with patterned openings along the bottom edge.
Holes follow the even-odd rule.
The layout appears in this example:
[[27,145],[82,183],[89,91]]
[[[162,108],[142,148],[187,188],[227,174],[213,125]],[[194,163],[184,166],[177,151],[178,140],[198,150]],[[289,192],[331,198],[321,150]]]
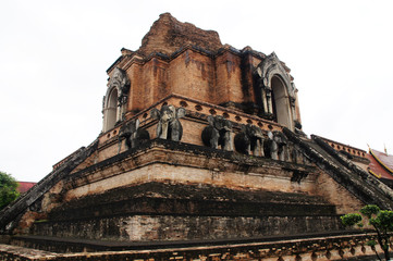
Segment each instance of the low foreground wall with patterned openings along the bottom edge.
[[[343,232],[342,232],[343,233]],[[135,245],[135,250],[102,252],[53,253],[28,248],[0,245],[1,260],[372,260],[371,247],[366,246],[365,234],[314,234],[302,237],[247,239],[221,241],[194,241],[191,245],[173,243]],[[33,239],[33,238],[32,238]],[[36,238],[38,239],[38,238]],[[41,238],[44,239],[44,238]],[[50,238],[47,238],[50,239]],[[111,245],[110,243],[106,243]],[[118,246],[120,248],[124,246]],[[139,250],[137,250],[139,249]],[[381,249],[377,248],[381,253]],[[33,251],[33,252],[32,252]],[[10,258],[11,257],[11,258]]]

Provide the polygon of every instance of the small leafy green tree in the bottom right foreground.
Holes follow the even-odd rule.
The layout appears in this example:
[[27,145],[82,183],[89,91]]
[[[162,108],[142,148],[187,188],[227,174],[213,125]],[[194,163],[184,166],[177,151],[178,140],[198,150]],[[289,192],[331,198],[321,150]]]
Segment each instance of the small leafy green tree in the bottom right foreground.
[[[360,213],[361,215],[358,213],[342,215],[341,221],[344,226],[364,227],[365,224],[363,223],[363,217],[366,216],[368,219],[368,224],[371,225],[377,233],[377,239],[384,252],[385,259],[390,260],[389,246],[391,244],[390,232],[393,232],[393,211],[381,210],[376,204],[368,204],[360,209]],[[369,245],[372,246],[376,244],[374,241],[370,240]]]

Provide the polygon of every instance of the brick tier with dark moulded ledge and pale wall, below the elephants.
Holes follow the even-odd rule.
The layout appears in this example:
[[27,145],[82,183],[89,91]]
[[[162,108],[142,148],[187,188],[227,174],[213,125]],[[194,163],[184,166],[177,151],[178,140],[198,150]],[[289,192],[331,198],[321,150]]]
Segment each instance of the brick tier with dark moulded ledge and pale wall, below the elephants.
[[[305,173],[299,183],[293,181]],[[317,176],[310,165],[275,161],[262,157],[214,150],[204,146],[165,139],[149,140],[64,179],[65,200],[86,194],[99,194],[123,186],[148,182],[176,184],[212,184],[231,189],[268,189],[288,191],[292,186],[308,192]]]

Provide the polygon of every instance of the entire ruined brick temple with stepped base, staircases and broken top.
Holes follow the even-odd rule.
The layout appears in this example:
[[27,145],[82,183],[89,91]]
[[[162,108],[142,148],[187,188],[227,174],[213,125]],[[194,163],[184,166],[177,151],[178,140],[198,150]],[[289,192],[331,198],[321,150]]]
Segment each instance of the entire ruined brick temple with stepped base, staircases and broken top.
[[393,191],[365,171],[365,151],[302,132],[275,53],[222,45],[165,13],[107,73],[99,137],[0,213],[3,260],[373,253],[340,215],[392,209]]

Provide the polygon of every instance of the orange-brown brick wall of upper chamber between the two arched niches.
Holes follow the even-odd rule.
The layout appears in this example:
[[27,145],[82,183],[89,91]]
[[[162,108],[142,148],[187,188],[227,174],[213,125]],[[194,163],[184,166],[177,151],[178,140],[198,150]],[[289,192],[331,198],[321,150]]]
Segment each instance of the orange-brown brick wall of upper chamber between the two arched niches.
[[131,82],[128,114],[135,115],[171,94],[211,104],[249,103],[243,111],[260,103],[260,86],[254,80],[253,65],[262,60],[259,54],[230,46],[213,53],[185,46],[167,57],[140,58],[135,62],[136,55],[126,55],[118,64]]

